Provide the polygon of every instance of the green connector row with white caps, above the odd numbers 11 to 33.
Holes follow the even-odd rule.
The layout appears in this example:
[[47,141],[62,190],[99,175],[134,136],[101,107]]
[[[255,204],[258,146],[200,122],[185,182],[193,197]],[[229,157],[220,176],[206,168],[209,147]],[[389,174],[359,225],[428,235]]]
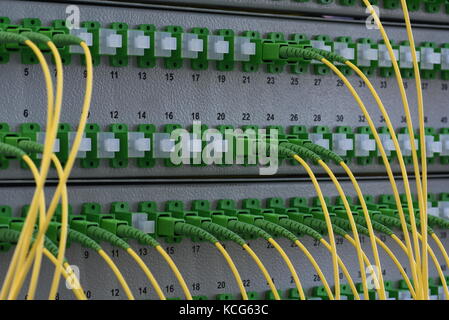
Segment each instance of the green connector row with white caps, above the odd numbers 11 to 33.
[[[318,75],[330,72],[320,62],[279,59],[267,49],[275,45],[334,51],[359,66],[368,76],[376,73],[382,77],[393,76],[385,45],[382,41],[377,42],[369,38],[353,40],[340,36],[332,39],[327,35],[287,36],[279,32],[267,33],[262,37],[258,31],[239,33],[231,29],[210,31],[199,27],[187,30],[181,26],[166,26],[159,30],[151,24],[131,29],[124,22],[113,22],[102,27],[96,21],[86,21],[81,24],[80,29],[69,30],[64,20],[55,20],[47,27],[37,18],[23,19],[20,24],[14,25],[7,17],[0,17],[0,30],[15,33],[34,31],[50,38],[57,34],[71,33],[84,39],[90,46],[94,65],[99,65],[101,56],[106,56],[113,67],[128,66],[129,58],[133,57],[140,68],[153,68],[157,65],[156,60],[162,59],[167,69],[179,69],[188,64],[193,70],[206,70],[214,64],[219,71],[232,71],[237,63],[241,63],[244,72],[257,71],[261,66],[265,66],[269,73],[281,73],[288,68],[291,73],[301,74],[309,67],[311,72]],[[398,41],[392,45],[399,57],[403,76],[413,77],[409,44],[406,41]],[[48,53],[44,46],[41,46],[41,49]],[[82,54],[81,49],[76,46],[61,46],[59,49],[64,64],[70,64],[73,55]],[[421,56],[420,68],[424,78],[433,79],[440,73],[442,79],[449,79],[449,43],[423,42],[417,50]],[[20,54],[24,64],[38,63],[30,49],[16,44],[0,45],[0,63],[7,63],[10,54],[14,52]],[[84,63],[83,59],[81,63]],[[348,67],[339,68],[346,74],[351,74]]]

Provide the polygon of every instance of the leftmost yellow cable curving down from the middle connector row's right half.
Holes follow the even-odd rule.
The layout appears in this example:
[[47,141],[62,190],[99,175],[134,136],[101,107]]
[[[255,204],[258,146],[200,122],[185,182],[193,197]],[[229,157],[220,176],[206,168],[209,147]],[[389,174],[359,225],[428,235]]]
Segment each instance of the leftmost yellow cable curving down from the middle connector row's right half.
[[304,167],[304,169],[306,170],[307,174],[310,177],[310,180],[312,181],[312,184],[315,188],[315,192],[317,193],[317,196],[320,200],[321,203],[321,207],[323,209],[324,212],[324,219],[326,222],[326,226],[327,226],[327,232],[329,234],[329,242],[330,242],[330,246],[332,249],[332,266],[334,269],[334,286],[335,286],[335,294],[334,294],[334,298],[336,300],[340,299],[340,275],[338,272],[338,255],[337,255],[337,246],[335,244],[335,236],[334,236],[334,231],[332,229],[332,222],[330,220],[330,215],[329,215],[329,211],[327,209],[327,205],[326,205],[326,201],[324,200],[324,196],[323,196],[323,192],[321,191],[320,185],[318,183],[318,180],[315,177],[315,174],[313,173],[312,169],[310,168],[310,166],[307,164],[307,162],[305,162],[300,156],[298,155],[293,155],[293,158],[299,163],[301,164],[301,166]]

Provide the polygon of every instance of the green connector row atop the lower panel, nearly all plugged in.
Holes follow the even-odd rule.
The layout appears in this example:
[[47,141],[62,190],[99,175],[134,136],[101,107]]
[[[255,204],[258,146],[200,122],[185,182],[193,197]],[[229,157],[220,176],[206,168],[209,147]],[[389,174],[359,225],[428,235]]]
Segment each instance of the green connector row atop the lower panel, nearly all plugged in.
[[[405,196],[402,195],[401,197],[406,204]],[[361,206],[358,202],[351,197],[348,197],[347,200],[354,215],[361,213]],[[325,201],[333,216],[340,216],[340,211],[344,210],[341,199],[337,197],[335,202],[331,203],[331,200],[326,197]],[[384,214],[390,215],[388,211],[393,212],[395,209],[394,199],[391,195],[381,195],[377,202],[373,196],[365,195],[365,201],[373,214],[385,211]],[[440,207],[443,219],[449,218],[444,216],[444,208],[449,207],[448,193],[429,194],[429,201],[433,207]],[[22,223],[28,208],[28,205],[23,206],[19,217],[16,217],[11,207],[0,206],[0,217],[3,217],[0,218],[0,224]],[[170,200],[165,203],[143,201],[138,203],[136,209],[133,210],[128,202],[117,201],[109,204],[108,207],[102,206],[100,203],[89,202],[82,204],[80,214],[74,214],[74,210],[69,206],[69,215],[70,221],[87,220],[113,233],[116,232],[118,225],[127,224],[145,230],[146,233],[154,237],[164,238],[168,242],[180,242],[183,237],[177,235],[174,228],[174,225],[178,222],[203,223],[212,221],[226,227],[227,224],[236,219],[242,219],[241,221],[250,223],[255,217],[258,217],[275,222],[279,217],[286,217],[304,223],[312,216],[320,219],[322,213],[319,200],[316,197],[311,199],[294,197],[287,200],[282,198],[265,200],[249,198],[238,202],[231,199],[221,199],[214,202],[193,200],[189,203],[179,200]],[[60,213],[61,208],[58,207],[54,217],[55,222],[59,221]],[[396,213],[393,212],[393,214]],[[429,213],[429,215],[431,214]],[[433,214],[433,216],[436,215]],[[431,222],[429,221],[429,223]],[[243,237],[248,240],[257,238],[254,234],[249,233],[244,234]],[[273,237],[279,238],[280,235],[273,234]],[[199,238],[192,238],[192,240],[201,241]]]

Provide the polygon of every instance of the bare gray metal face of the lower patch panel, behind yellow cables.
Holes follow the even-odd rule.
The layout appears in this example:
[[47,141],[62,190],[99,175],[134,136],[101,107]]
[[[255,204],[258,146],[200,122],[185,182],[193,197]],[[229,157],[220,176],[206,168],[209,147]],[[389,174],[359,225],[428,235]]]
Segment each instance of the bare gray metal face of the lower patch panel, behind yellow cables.
[[[399,181],[398,181],[399,182]],[[364,194],[379,195],[380,193],[391,193],[391,189],[386,186],[386,181],[363,181],[361,188]],[[344,182],[343,188],[347,195],[354,195],[353,188],[348,182]],[[447,191],[448,180],[432,180],[429,183],[429,192],[444,192]],[[326,196],[336,196],[335,188],[330,184],[321,183],[322,190]],[[399,183],[399,188],[401,184]],[[414,186],[412,186],[414,188]],[[413,189],[414,190],[414,189]],[[51,191],[51,189],[49,190]],[[15,214],[19,214],[19,210],[26,201],[32,197],[32,188],[23,187],[1,187],[0,198],[1,205],[10,205],[14,208]],[[50,192],[48,194],[51,194]],[[266,199],[269,197],[282,197],[288,199],[291,197],[314,197],[312,185],[310,182],[283,182],[283,183],[229,183],[229,184],[147,184],[147,185],[94,185],[87,184],[85,186],[71,186],[69,188],[70,203],[74,205],[75,213],[78,213],[83,202],[100,202],[108,210],[108,204],[113,201],[128,201],[133,210],[136,210],[137,202],[139,201],[158,201],[162,203],[167,200],[183,200],[189,202],[195,199],[218,200],[218,199],[234,199],[241,200],[242,198],[258,198]],[[25,200],[27,199],[27,200]],[[441,235],[442,230],[436,231],[438,235],[442,236],[442,240],[449,249],[449,242],[444,235]],[[446,231],[444,231],[446,232]],[[399,234],[399,232],[398,232]],[[320,267],[322,268],[329,283],[332,283],[332,267],[330,255],[322,246],[315,246],[314,241],[310,238],[303,237],[301,241],[310,250],[315,257]],[[402,251],[390,239],[386,239],[386,244],[390,246],[391,250],[397,255],[401,264],[408,266],[407,258]],[[290,256],[293,264],[300,275],[300,280],[307,294],[310,294],[310,289],[314,286],[320,285],[315,279],[315,272],[311,265],[306,261],[304,255],[295,247],[291,247],[286,240],[279,239],[279,243]],[[432,247],[432,241],[429,242]],[[192,246],[199,244],[200,250],[198,253],[193,253]],[[102,244],[103,245],[103,244]],[[275,279],[275,284],[278,289],[286,290],[293,288],[294,285],[290,282],[290,274],[285,264],[279,259],[278,255],[273,252],[273,249],[267,248],[265,241],[257,240],[250,241],[251,247],[260,255],[261,260]],[[214,298],[217,293],[232,293],[238,296],[238,289],[232,278],[224,260],[218,255],[216,250],[207,243],[192,243],[188,240],[183,240],[180,244],[164,244],[164,247],[174,247],[174,254],[172,255],[182,274],[184,275],[187,284],[191,288],[192,284],[200,283],[200,290],[193,291],[193,295],[207,295],[209,298]],[[111,254],[112,248],[104,244],[104,249]],[[133,243],[135,250],[143,248],[142,246]],[[226,248],[230,255],[234,258],[237,268],[240,271],[242,279],[250,280],[250,287],[248,291],[256,291],[264,293],[268,290],[265,280],[262,278],[260,272],[256,270],[254,263],[244,253],[241,248],[234,244],[226,243]],[[360,282],[358,278],[358,264],[355,258],[355,251],[349,244],[344,241],[343,244],[338,245],[338,252],[342,260],[346,264],[351,276],[355,282]],[[369,239],[364,237],[363,249],[366,251],[368,257],[372,261]],[[434,248],[435,249],[435,248]],[[380,249],[379,249],[380,250]],[[178,283],[175,281],[172,273],[168,270],[165,262],[161,260],[159,255],[154,250],[149,249],[148,255],[143,256],[145,262],[148,263],[151,271],[156,276],[161,287],[165,290],[166,286],[174,285],[175,291],[167,294],[168,297],[183,297]],[[119,285],[111,272],[107,269],[99,257],[93,253],[89,253],[89,258],[84,258],[85,250],[78,245],[73,245],[67,251],[67,259],[71,264],[79,266],[81,270],[81,283],[85,290],[92,293],[92,299],[124,299],[123,291],[119,297],[112,297],[111,290],[119,288]],[[385,279],[398,281],[401,276],[397,269],[393,266],[391,260],[386,257],[382,250],[379,251],[381,255],[382,268],[386,269]],[[441,265],[444,265],[439,252],[435,249]],[[7,261],[11,257],[11,251],[8,253],[0,253],[0,278],[3,278],[5,269],[7,268]],[[119,257],[114,258],[119,268],[123,271],[126,280],[128,280],[132,291],[136,298],[147,299],[156,298],[154,290],[148,284],[145,276],[136,268],[135,263],[131,262],[124,252],[119,252]],[[437,277],[433,264],[430,263],[430,276]],[[444,268],[444,266],[443,266]],[[42,272],[39,289],[39,298],[46,298],[48,292],[47,288],[51,283],[53,269],[45,262]],[[217,289],[217,281],[225,281],[226,288],[223,290]],[[149,289],[148,295],[140,296],[138,294],[139,288],[147,287]],[[61,284],[60,289],[61,299],[72,299],[71,293]]]

